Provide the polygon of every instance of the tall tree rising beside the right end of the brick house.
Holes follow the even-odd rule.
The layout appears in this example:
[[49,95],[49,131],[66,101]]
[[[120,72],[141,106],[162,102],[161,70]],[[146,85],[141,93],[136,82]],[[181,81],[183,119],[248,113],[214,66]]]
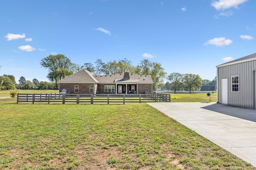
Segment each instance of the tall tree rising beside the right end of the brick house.
[[160,63],[154,62],[151,64],[150,75],[153,80],[153,91],[155,91],[156,88],[159,88],[160,83],[164,81],[166,73]]

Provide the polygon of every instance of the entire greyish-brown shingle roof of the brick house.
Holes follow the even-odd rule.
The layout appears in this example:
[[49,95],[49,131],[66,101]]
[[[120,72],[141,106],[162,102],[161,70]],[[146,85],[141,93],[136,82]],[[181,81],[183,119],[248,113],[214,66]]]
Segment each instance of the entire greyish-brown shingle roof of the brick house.
[[80,70],[59,83],[153,83],[150,75],[139,75],[129,73],[130,79],[124,79],[124,73],[113,75],[92,75],[88,70]]

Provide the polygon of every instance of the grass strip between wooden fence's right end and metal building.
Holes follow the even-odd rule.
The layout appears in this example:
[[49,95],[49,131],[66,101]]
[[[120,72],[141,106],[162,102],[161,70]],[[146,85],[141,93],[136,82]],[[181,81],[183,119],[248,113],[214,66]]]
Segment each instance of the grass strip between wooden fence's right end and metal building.
[[[171,102],[206,102],[209,101],[207,92],[196,94],[170,94]],[[217,93],[211,94],[211,102],[217,102]]]

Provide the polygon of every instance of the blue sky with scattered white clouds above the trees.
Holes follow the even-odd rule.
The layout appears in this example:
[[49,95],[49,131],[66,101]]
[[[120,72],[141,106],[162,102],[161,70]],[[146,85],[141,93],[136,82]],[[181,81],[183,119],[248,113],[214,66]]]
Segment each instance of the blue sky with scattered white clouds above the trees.
[[255,0],[2,0],[0,75],[48,81],[40,61],[148,59],[213,80],[216,65],[256,53]]

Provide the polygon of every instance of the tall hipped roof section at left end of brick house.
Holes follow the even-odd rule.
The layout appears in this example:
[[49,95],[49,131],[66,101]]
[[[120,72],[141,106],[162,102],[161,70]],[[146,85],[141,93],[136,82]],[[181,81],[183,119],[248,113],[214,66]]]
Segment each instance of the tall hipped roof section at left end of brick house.
[[81,82],[98,83],[98,80],[94,78],[91,72],[83,69],[59,81],[59,83],[81,83]]

